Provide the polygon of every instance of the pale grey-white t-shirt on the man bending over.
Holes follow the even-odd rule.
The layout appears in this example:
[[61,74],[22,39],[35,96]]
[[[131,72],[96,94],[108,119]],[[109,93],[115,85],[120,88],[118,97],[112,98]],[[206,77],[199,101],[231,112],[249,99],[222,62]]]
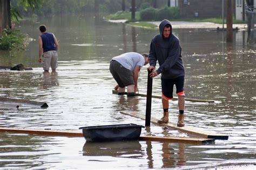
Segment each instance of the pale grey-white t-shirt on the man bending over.
[[136,65],[139,65],[140,69],[142,69],[142,67],[145,64],[144,57],[137,52],[123,53],[120,56],[113,57],[112,60],[116,60],[118,63],[120,63],[126,69],[129,69],[131,71],[134,70]]

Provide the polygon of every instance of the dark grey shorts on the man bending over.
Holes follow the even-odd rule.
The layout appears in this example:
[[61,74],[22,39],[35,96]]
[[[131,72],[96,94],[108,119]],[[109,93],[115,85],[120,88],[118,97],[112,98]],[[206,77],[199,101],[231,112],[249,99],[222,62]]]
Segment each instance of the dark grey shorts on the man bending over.
[[109,70],[114,80],[117,81],[119,87],[125,87],[134,84],[133,72],[123,67],[116,60],[111,60]]

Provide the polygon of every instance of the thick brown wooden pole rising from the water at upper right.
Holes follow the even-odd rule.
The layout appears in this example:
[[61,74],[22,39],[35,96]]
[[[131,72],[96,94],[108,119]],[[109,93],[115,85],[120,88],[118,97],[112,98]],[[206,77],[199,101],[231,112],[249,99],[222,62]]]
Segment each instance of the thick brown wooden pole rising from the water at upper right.
[[227,0],[227,42],[233,42],[233,0]]

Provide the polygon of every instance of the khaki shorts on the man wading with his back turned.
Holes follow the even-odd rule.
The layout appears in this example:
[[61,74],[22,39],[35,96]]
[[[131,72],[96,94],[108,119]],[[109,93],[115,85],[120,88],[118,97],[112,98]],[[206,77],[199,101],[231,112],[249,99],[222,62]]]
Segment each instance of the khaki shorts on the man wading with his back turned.
[[43,69],[55,70],[58,67],[58,53],[57,51],[46,51],[43,56]]

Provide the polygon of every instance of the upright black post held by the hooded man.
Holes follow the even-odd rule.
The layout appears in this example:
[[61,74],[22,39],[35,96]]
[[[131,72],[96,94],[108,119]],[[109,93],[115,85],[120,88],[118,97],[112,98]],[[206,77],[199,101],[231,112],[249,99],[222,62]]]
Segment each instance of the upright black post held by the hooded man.
[[151,72],[152,71],[147,72],[147,101],[146,101],[145,126],[150,126],[150,119],[151,119],[151,100],[152,100],[152,83],[153,83],[153,79],[150,77]]

